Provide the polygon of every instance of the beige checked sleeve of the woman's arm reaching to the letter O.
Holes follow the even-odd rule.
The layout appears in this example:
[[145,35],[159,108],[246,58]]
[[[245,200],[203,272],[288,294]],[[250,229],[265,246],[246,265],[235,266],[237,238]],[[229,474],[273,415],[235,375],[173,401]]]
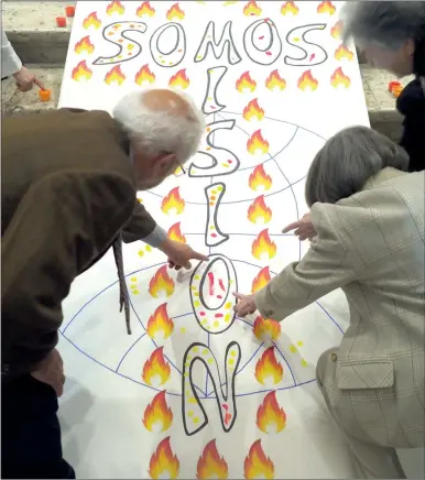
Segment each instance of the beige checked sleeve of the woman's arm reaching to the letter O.
[[[333,212],[331,220],[328,210]],[[351,268],[352,252],[338,233],[340,223],[335,206],[315,204],[310,216],[317,236],[307,253],[254,295],[257,308],[264,318],[283,320],[357,276]]]

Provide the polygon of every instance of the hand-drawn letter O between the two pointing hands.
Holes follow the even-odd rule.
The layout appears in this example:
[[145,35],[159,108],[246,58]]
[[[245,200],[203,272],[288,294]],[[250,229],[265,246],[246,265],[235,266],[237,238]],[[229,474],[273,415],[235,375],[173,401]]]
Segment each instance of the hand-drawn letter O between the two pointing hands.
[[[207,330],[204,327],[204,325],[201,324],[201,318],[198,317],[198,314],[196,312],[197,309],[205,309],[206,312],[215,312],[215,310],[220,309],[225,305],[226,302],[230,302],[229,301],[229,297],[231,297],[231,295],[230,295],[230,284],[227,285],[227,292],[224,295],[224,301],[222,301],[222,303],[218,307],[209,308],[209,306],[206,305],[205,299],[204,299],[203,287],[204,287],[204,283],[205,283],[205,277],[208,274],[208,272],[211,270],[211,266],[217,261],[219,261],[219,260],[221,262],[224,262],[225,265],[226,265],[226,271],[227,271],[227,275],[228,275],[229,281],[233,280],[232,291],[237,292],[238,291],[238,277],[237,277],[237,274],[236,274],[236,270],[235,270],[233,263],[231,262],[230,259],[228,259],[227,257],[222,255],[221,253],[215,253],[215,254],[209,255],[209,262],[207,263],[206,266],[205,266],[204,263],[199,262],[199,264],[196,266],[196,269],[194,270],[194,272],[192,273],[192,276],[190,276],[190,307],[192,307],[192,310],[193,310],[193,313],[195,315],[196,321],[198,323],[199,327],[204,331],[206,331],[207,334],[210,334],[210,335],[220,335],[220,334],[224,334],[225,331],[227,331],[233,325],[235,319],[236,319],[236,313],[232,309],[230,309],[229,312],[230,312],[230,315],[232,315],[232,318],[230,319],[230,321],[226,326],[226,328],[220,329],[219,331],[210,331],[210,330]],[[200,269],[203,270],[201,274],[198,273]],[[195,280],[196,275],[201,275],[199,281]],[[194,284],[198,285],[197,291],[199,292],[199,297],[194,297],[194,291],[192,290],[192,286],[194,286]],[[195,305],[194,305],[194,303],[196,301],[199,301],[200,304],[201,304],[198,308],[195,307]],[[231,299],[231,301],[235,302],[235,304],[237,303],[236,299],[235,301]]]

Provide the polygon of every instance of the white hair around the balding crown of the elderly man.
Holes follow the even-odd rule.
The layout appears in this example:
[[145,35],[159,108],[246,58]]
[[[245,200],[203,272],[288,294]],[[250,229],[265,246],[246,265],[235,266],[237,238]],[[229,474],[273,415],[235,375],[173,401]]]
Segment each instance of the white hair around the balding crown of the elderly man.
[[182,98],[187,109],[178,109],[167,99],[161,110],[148,107],[144,97],[153,89],[132,91],[117,103],[112,117],[129,134],[131,141],[146,155],[174,153],[179,164],[193,156],[199,146],[205,129],[201,111],[183,92],[168,89]]

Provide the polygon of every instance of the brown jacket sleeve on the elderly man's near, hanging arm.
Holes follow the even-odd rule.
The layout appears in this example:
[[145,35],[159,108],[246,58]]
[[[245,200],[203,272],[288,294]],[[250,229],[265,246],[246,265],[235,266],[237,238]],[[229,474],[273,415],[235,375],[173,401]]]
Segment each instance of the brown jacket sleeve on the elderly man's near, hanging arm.
[[51,175],[30,187],[2,237],[2,375],[31,372],[56,345],[74,279],[131,216],[134,190],[108,174]]

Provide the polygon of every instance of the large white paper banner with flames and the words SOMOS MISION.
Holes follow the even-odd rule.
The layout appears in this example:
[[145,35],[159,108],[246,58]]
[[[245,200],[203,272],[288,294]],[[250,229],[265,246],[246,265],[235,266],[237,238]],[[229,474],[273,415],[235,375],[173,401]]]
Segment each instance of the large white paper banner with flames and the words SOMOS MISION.
[[[124,247],[132,336],[111,255],[73,285],[61,348],[95,399],[97,449],[73,454],[84,477],[350,474],[315,384],[347,325],[344,297],[279,324],[237,318],[232,296],[301,259],[308,246],[281,231],[306,211],[309,163],[339,129],[368,124],[341,3],[78,3],[61,106],[110,111],[145,86],[194,97],[207,124],[198,154],[139,197],[170,238],[209,254],[178,282],[161,252]],[[63,415],[75,425],[73,402]],[[65,452],[69,435],[86,434],[65,429]]]

